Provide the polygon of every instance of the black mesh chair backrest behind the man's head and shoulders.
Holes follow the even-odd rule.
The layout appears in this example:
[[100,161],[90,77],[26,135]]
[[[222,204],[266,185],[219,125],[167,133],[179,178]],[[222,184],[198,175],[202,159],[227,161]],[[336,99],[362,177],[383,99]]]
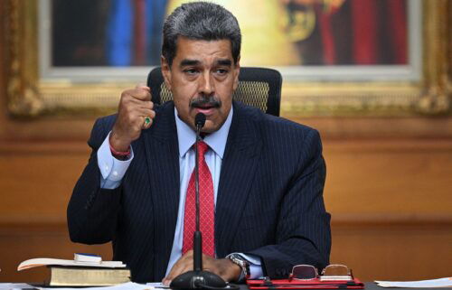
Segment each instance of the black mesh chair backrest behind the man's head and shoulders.
[[[281,103],[282,77],[278,70],[265,68],[240,68],[239,86],[233,98],[240,102],[260,108],[273,116],[279,116]],[[151,88],[152,101],[163,104],[173,99],[173,94],[165,86],[160,67],[149,72],[147,86]]]

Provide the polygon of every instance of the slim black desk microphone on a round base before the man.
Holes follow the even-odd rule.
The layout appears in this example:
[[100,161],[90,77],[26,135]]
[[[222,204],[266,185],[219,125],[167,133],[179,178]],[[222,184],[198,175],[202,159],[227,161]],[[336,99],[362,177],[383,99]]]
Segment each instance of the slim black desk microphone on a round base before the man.
[[202,233],[200,230],[199,210],[199,165],[198,165],[198,143],[201,141],[201,129],[205,124],[205,115],[196,114],[194,126],[196,128],[196,143],[194,146],[194,192],[196,204],[196,230],[193,233],[193,271],[176,276],[171,281],[170,287],[174,289],[228,289],[226,282],[221,276],[212,272],[202,271]]

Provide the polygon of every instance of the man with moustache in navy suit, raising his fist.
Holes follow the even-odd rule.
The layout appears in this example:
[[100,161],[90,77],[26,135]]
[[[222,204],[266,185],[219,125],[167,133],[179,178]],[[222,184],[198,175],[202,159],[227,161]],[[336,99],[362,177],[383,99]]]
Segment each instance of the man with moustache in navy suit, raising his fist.
[[287,276],[297,264],[328,264],[320,138],[232,101],[240,41],[237,20],[220,5],[178,7],[165,21],[161,61],[174,102],[154,106],[147,87],[128,89],[118,115],[93,127],[89,164],[68,206],[71,240],[112,241],[113,258],[131,268],[134,281],[168,284],[193,268],[193,231],[185,223],[193,207],[185,206],[193,202],[199,112],[206,116],[208,151],[201,159],[212,194],[201,191],[202,206],[212,205],[202,211],[202,226],[214,219],[202,233],[204,269],[238,281]]

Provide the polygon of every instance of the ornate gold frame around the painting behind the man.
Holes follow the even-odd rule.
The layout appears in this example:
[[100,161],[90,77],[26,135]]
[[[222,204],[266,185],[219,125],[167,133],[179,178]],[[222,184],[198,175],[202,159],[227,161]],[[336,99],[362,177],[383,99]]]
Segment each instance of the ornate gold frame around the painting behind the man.
[[[114,111],[123,89],[134,81],[80,83],[40,78],[38,1],[7,0],[7,98],[13,116],[91,115]],[[413,116],[445,115],[451,110],[452,3],[421,1],[420,80],[287,81],[281,115]]]

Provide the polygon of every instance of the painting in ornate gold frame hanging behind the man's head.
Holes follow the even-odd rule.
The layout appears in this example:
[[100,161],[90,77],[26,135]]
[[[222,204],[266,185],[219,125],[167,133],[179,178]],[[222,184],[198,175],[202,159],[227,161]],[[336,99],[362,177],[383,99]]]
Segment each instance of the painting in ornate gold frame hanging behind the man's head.
[[[8,108],[14,116],[115,110],[160,59],[180,0],[7,0]],[[239,20],[242,66],[283,75],[281,115],[450,112],[447,0],[216,0]]]

